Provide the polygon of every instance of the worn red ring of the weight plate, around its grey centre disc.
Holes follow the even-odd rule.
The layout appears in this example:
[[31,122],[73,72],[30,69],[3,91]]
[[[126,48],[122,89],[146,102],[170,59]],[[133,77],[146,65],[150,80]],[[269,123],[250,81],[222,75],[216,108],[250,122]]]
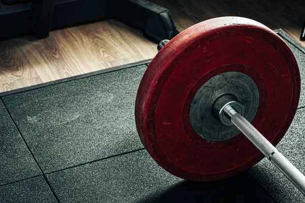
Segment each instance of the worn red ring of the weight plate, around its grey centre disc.
[[236,71],[258,86],[252,124],[277,145],[295,115],[300,76],[288,45],[266,26],[241,17],[198,23],[177,35],[151,61],[140,83],[136,126],[149,154],[169,173],[188,180],[234,176],[263,155],[242,133],[221,142],[199,137],[190,123],[197,90],[210,78]]

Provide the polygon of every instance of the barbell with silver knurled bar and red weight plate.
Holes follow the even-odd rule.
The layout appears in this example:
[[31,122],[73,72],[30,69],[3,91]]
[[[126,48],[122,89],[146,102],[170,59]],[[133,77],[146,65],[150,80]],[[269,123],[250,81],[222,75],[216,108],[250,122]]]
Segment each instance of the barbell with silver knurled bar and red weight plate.
[[219,17],[158,50],[138,88],[135,120],[142,144],[164,170],[215,181],[266,156],[305,194],[305,177],[274,147],[300,97],[298,64],[283,39],[257,21]]

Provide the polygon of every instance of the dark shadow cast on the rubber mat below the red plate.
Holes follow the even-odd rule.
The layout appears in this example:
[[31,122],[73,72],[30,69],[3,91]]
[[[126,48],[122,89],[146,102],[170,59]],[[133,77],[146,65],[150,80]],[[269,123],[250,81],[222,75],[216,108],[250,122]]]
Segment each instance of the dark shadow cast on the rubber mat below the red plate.
[[151,194],[144,202],[274,202],[248,172],[215,182],[183,181],[163,193]]

